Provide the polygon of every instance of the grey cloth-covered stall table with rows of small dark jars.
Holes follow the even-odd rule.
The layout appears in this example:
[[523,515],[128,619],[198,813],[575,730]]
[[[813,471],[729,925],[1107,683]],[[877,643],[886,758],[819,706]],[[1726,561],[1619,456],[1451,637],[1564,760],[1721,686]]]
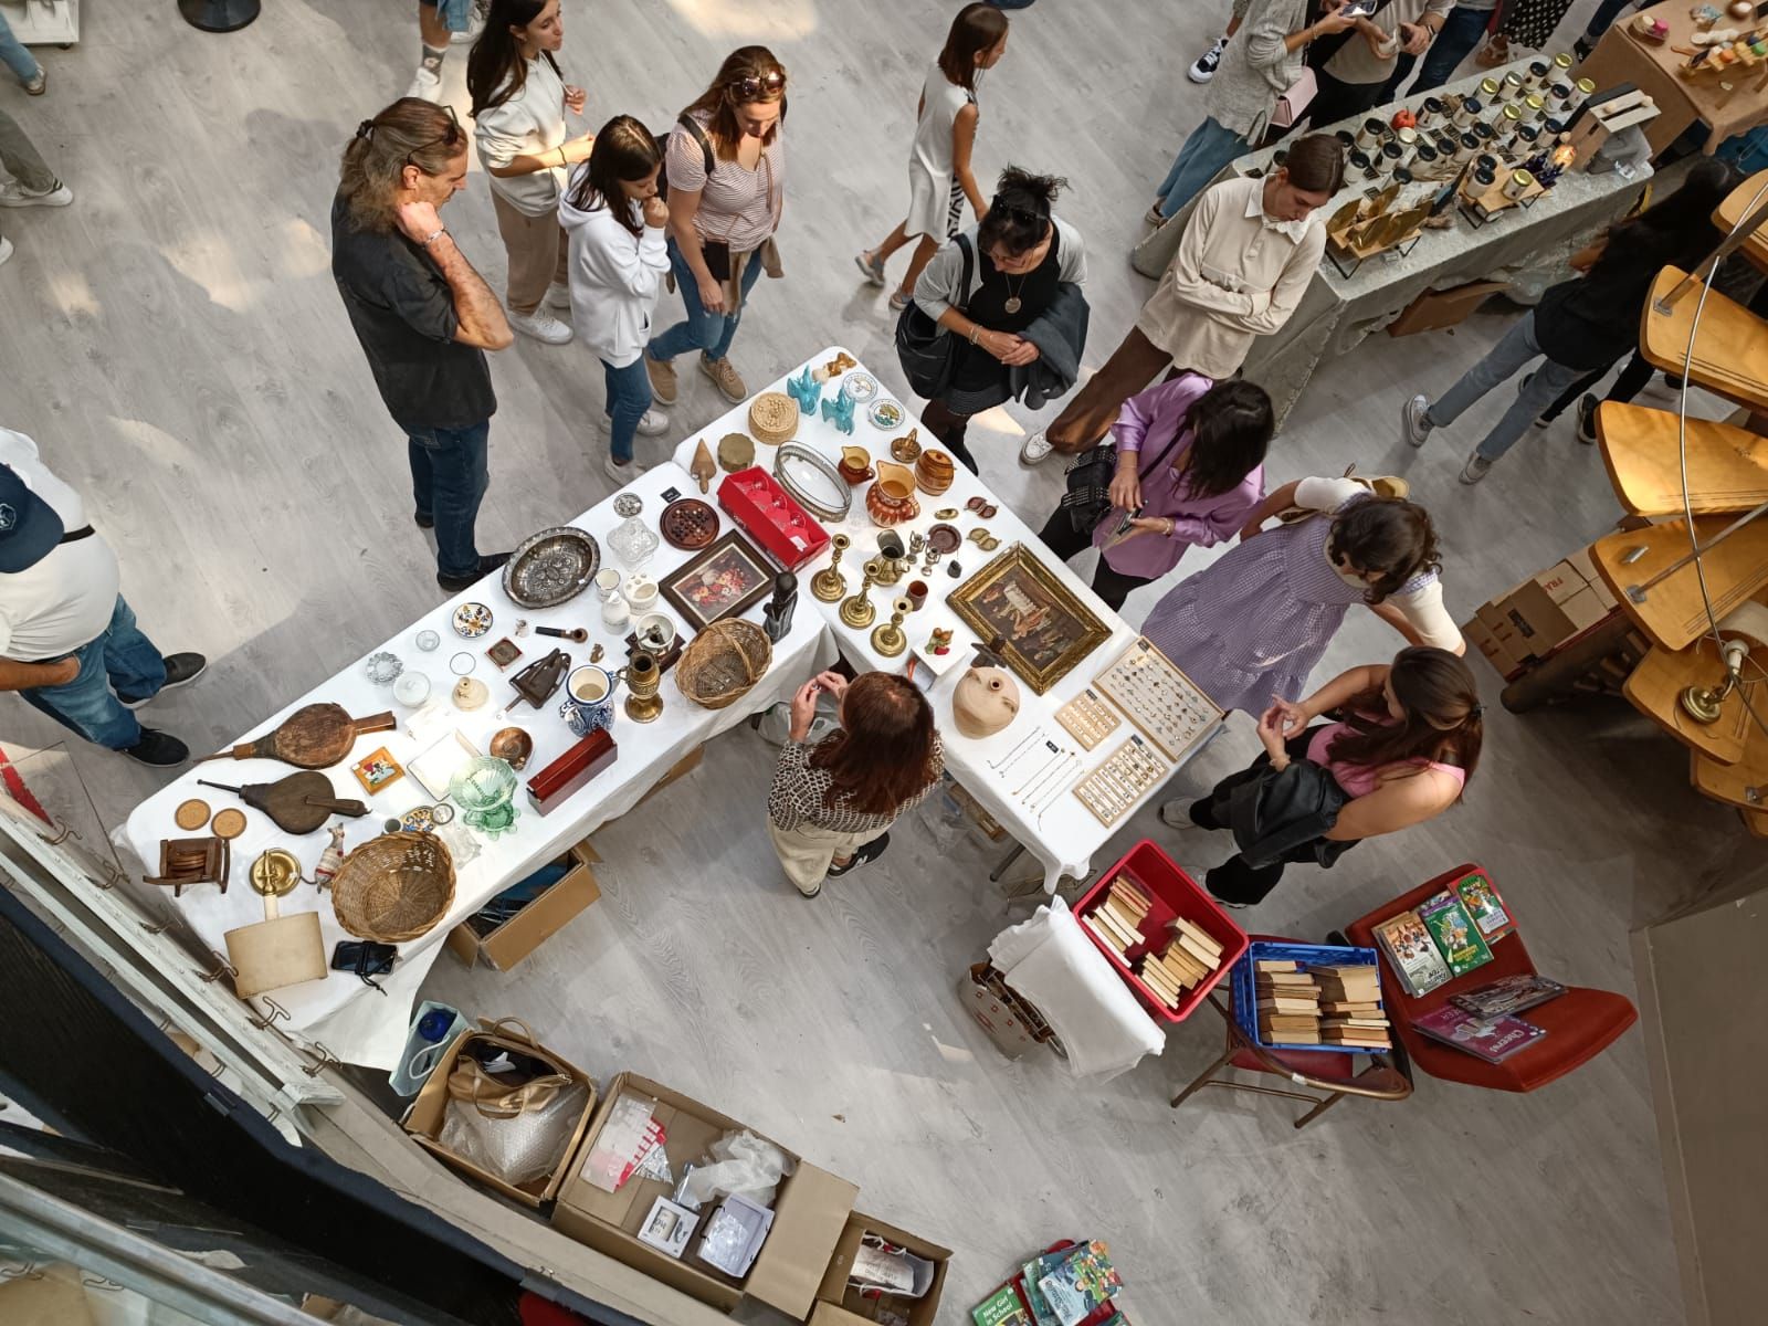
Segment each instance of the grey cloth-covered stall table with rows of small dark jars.
[[[1425,101],[1432,97],[1441,101],[1444,94],[1455,94],[1478,99],[1480,85],[1485,80],[1503,85],[1506,74],[1515,74],[1510,83],[1515,88],[1529,80],[1529,67],[1535,64],[1549,64],[1551,67],[1543,57],[1515,60],[1501,69],[1482,71],[1441,88],[1402,97],[1390,106],[1368,111],[1368,115],[1322,126],[1322,131],[1342,131],[1354,140],[1363,131],[1367,118],[1391,122],[1402,106],[1418,118]],[[1549,74],[1551,87],[1554,78],[1558,74]],[[1536,76],[1535,83],[1538,85],[1538,81]],[[1563,83],[1559,85],[1563,87]],[[1505,104],[1517,104],[1520,95],[1528,94],[1510,92],[1503,95],[1497,113],[1503,111]],[[1552,104],[1551,99],[1549,104]],[[1482,106],[1480,118],[1490,120],[1492,117],[1494,110]],[[1423,118],[1427,129],[1437,129],[1446,117],[1437,117],[1434,124],[1430,117]],[[1282,150],[1284,143],[1276,143],[1248,152],[1227,164],[1215,182],[1262,175],[1271,170],[1271,157]],[[1515,156],[1510,154],[1505,159]],[[1619,171],[1593,175],[1566,170],[1533,205],[1512,207],[1478,226],[1452,203],[1446,210],[1446,216],[1452,217],[1446,228],[1425,228],[1416,242],[1368,258],[1349,276],[1340,272],[1330,256],[1322,258],[1289,322],[1276,332],[1254,341],[1243,373],[1248,382],[1257,382],[1271,394],[1276,421],[1282,426],[1322,362],[1353,350],[1365,336],[1391,324],[1425,292],[1450,290],[1469,281],[1501,281],[1519,302],[1533,304],[1549,285],[1572,274],[1566,258],[1625,216],[1650,177],[1650,166],[1641,166],[1630,175]],[[1363,171],[1347,168],[1344,189],[1319,209],[1321,219],[1333,216],[1358,193],[1367,193],[1377,184],[1386,186],[1391,179],[1391,170],[1381,173],[1377,180],[1370,180]],[[1444,180],[1421,179],[1406,184],[1395,207],[1436,193],[1443,186]],[[1132,262],[1139,272],[1160,279],[1172,262],[1172,255],[1177,253],[1188,217],[1186,209],[1135,248]],[[1494,290],[1494,293],[1497,292]]]

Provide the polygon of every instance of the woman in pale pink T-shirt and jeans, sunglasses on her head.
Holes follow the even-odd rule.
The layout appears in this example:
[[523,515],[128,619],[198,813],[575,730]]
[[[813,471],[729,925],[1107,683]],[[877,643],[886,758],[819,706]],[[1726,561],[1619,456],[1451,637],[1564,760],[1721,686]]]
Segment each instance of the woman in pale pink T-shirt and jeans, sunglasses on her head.
[[785,65],[766,46],[744,46],[725,57],[668,136],[668,260],[688,316],[645,350],[651,391],[663,405],[681,391],[672,361],[690,350],[732,405],[750,394],[728,355],[757,278],[764,269],[781,274],[774,232],[785,207],[783,124]]

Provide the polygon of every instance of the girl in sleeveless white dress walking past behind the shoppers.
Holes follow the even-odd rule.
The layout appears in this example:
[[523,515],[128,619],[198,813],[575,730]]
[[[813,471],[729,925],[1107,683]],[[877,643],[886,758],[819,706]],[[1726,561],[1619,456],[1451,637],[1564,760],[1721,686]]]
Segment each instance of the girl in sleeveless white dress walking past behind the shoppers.
[[958,233],[964,200],[981,221],[988,210],[983,191],[971,170],[976,145],[976,80],[1006,55],[1006,14],[994,5],[974,4],[958,11],[946,34],[946,48],[926,74],[921,103],[916,106],[914,149],[909,152],[909,217],[900,221],[875,249],[865,249],[854,262],[872,285],[884,285],[884,263],[911,239],[914,248],[902,285],[889,297],[893,309],[903,309],[914,293],[921,269],[939,253],[939,246]]

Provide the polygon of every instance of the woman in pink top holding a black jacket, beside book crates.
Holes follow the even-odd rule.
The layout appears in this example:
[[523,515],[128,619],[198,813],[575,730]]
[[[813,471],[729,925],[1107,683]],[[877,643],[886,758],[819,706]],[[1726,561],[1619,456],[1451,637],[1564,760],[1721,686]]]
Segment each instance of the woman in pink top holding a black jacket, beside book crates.
[[[1314,718],[1337,721],[1310,728]],[[1322,766],[1344,789],[1337,822],[1280,861],[1254,866],[1234,856],[1208,875],[1209,893],[1229,907],[1250,907],[1284,877],[1289,861],[1319,861],[1322,843],[1337,850],[1398,833],[1453,806],[1480,762],[1485,709],[1467,665],[1446,649],[1413,645],[1393,663],[1340,672],[1299,704],[1282,697],[1259,718],[1268,764],[1282,773],[1294,760]],[[1225,829],[1211,797],[1190,806],[1169,801],[1160,819],[1177,829]],[[1328,852],[1326,856],[1331,856]]]

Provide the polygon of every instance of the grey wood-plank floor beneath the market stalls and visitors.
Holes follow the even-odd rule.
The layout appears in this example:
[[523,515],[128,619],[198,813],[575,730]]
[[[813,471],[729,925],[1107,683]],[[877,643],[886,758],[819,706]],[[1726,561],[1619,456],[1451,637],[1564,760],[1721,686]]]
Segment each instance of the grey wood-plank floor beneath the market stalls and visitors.
[[[884,299],[857,285],[850,255],[905,205],[914,97],[953,5],[566,9],[566,69],[589,88],[592,124],[615,111],[667,124],[725,50],[755,39],[780,51],[794,78],[789,279],[757,292],[734,359],[760,382],[843,339],[900,385]],[[198,748],[331,675],[438,592],[405,518],[401,440],[327,274],[336,157],[410,78],[410,11],[408,0],[279,0],[246,32],[205,37],[168,5],[90,5],[85,41],[44,53],[48,99],[0,87],[0,104],[78,193],[72,209],[5,217],[18,256],[0,271],[0,424],[32,433],[87,493],[145,628],[166,649],[210,656],[200,686],[149,711]],[[1089,364],[1147,292],[1124,251],[1202,113],[1181,67],[1225,12],[1199,21],[1199,11],[1225,0],[1045,0],[1015,14],[1010,53],[983,88],[979,175],[1013,161],[1075,184],[1061,212],[1091,251]],[[1581,0],[1566,37],[1588,11]],[[446,74],[456,99],[463,64],[456,50]],[[447,219],[500,285],[481,180]],[[1443,525],[1457,613],[1616,516],[1600,458],[1568,423],[1531,435],[1480,488],[1455,483],[1501,392],[1452,438],[1400,446],[1398,403],[1446,387],[1506,324],[1487,315],[1453,332],[1377,336],[1314,384],[1271,463],[1273,483],[1353,460],[1407,474]],[[493,377],[486,548],[608,490],[592,428],[601,373],[582,348],[520,341]],[[723,410],[697,375],[684,384],[677,435]],[[1027,426],[1017,408],[992,415],[972,446],[1034,518],[1059,476],[1015,465]],[[674,437],[645,446],[661,458]],[[1132,598],[1132,619],[1151,599]],[[1395,644],[1353,617],[1322,675]],[[1482,677],[1496,698],[1496,677]],[[1296,872],[1252,925],[1319,937],[1478,859],[1545,971],[1630,992],[1630,925],[1759,847],[1738,845],[1736,822],[1688,790],[1680,748],[1625,709],[1517,720],[1494,704],[1489,716],[1466,804],[1330,873]],[[16,700],[0,702],[0,737],[14,755],[42,748],[32,778],[42,771],[44,796],[94,826],[120,822],[157,785]],[[1204,769],[1252,750],[1238,723]],[[599,834],[599,905],[513,976],[467,974],[444,956],[430,992],[523,1017],[603,1078],[644,1070],[854,1177],[863,1209],[958,1250],[951,1321],[1059,1236],[1112,1241],[1139,1322],[1680,1317],[1637,1033],[1536,1096],[1423,1080],[1409,1103],[1345,1103],[1301,1133],[1282,1103],[1250,1096],[1167,1109],[1218,1048],[1211,1017],[1176,1029],[1162,1061],[1107,1087],[1073,1086],[1050,1061],[1001,1061],[955,1004],[958,972],[1022,911],[985,882],[988,857],[948,843],[930,810],[886,861],[806,903],[778,879],[762,831],[769,757],[748,732],[714,743],[704,769]],[[1146,815],[1117,845],[1144,834],[1170,836]]]

